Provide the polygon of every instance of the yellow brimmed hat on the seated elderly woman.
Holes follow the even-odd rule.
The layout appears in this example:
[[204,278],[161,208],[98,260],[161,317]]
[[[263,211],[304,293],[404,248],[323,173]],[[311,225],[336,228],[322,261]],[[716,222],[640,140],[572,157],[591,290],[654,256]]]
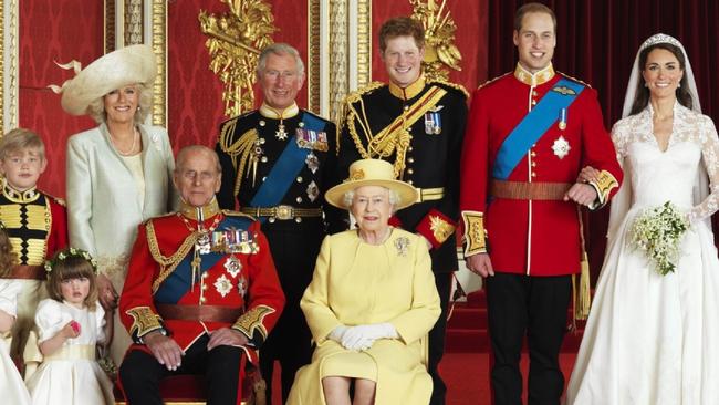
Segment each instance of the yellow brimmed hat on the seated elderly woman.
[[344,183],[332,187],[325,193],[327,202],[337,208],[347,209],[344,195],[357,187],[381,186],[399,195],[397,209],[409,207],[417,201],[419,191],[411,185],[395,180],[395,168],[389,162],[382,159],[361,159],[350,165],[350,177]]

